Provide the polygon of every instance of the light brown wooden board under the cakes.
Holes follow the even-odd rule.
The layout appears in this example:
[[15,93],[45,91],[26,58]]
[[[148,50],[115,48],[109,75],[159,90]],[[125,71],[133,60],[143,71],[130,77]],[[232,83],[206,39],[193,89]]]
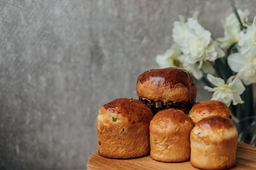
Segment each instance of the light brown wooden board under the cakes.
[[[190,162],[163,163],[151,157],[136,159],[109,159],[96,151],[87,162],[87,170],[198,170]],[[256,147],[238,142],[236,167],[232,170],[256,170]]]

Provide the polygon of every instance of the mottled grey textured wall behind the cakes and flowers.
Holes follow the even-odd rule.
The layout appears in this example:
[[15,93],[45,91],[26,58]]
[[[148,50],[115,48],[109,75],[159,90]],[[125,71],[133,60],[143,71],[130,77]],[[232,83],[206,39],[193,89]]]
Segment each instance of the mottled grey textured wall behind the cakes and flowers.
[[[256,1],[236,2],[252,19]],[[232,11],[228,0],[0,0],[0,169],[85,169],[98,108],[137,98],[173,21],[195,10],[215,37]],[[197,86],[197,101],[211,97]]]

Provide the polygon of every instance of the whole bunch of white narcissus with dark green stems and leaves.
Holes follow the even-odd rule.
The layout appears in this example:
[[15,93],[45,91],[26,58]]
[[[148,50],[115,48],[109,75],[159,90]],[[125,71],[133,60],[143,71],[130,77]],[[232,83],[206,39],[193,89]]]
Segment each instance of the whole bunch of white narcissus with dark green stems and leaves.
[[174,22],[171,48],[156,56],[160,68],[178,67],[202,80],[212,100],[229,106],[238,140],[256,145],[256,16],[248,22],[249,11],[237,10],[223,21],[224,37],[213,38],[197,20],[198,12],[185,21]]

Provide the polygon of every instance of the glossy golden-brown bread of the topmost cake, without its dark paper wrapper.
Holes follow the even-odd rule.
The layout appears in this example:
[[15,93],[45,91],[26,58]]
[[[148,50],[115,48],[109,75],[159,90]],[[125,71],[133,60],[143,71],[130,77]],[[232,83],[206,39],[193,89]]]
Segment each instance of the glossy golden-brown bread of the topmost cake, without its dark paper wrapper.
[[197,96],[197,86],[189,72],[182,68],[151,69],[137,80],[139,97],[153,101],[188,101]]

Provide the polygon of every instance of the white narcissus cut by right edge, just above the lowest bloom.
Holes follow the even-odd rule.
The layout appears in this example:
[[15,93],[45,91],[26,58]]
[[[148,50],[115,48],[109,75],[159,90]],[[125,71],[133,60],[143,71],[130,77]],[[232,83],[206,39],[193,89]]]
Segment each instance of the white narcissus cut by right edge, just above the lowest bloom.
[[233,53],[228,56],[229,67],[245,85],[256,83],[256,46],[246,54]]

